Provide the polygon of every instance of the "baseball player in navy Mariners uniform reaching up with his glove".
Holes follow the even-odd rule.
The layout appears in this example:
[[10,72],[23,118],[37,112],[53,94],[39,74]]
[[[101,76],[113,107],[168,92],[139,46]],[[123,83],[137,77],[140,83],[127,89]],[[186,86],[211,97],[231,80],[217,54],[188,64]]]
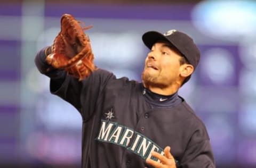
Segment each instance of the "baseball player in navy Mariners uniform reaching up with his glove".
[[[90,45],[90,40],[85,45],[75,44],[70,36],[75,36],[76,41],[80,37],[70,31],[63,28],[53,46],[37,53],[35,63],[39,72],[50,77],[51,93],[82,115],[83,168],[215,167],[204,123],[178,95],[199,62],[200,52],[193,39],[178,30],[144,33],[142,40],[150,51],[142,82],[137,82],[126,77],[117,79],[113,73],[94,66],[82,73],[93,56],[70,60],[91,49],[81,49]],[[56,44],[58,40],[61,45]],[[70,70],[71,66],[58,68],[60,63],[56,63],[63,59],[56,57],[65,53],[71,53],[65,59],[76,62],[72,68],[77,66],[79,70]]]

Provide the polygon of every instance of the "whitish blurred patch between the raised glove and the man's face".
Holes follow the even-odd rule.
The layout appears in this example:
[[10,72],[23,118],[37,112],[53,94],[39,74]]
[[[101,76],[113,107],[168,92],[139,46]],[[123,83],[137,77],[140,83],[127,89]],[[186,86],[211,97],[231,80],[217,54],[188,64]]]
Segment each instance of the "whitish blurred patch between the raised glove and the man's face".
[[146,53],[141,35],[129,32],[91,33],[91,45],[95,65],[113,72],[117,78],[128,77],[141,81],[136,68],[143,64]]

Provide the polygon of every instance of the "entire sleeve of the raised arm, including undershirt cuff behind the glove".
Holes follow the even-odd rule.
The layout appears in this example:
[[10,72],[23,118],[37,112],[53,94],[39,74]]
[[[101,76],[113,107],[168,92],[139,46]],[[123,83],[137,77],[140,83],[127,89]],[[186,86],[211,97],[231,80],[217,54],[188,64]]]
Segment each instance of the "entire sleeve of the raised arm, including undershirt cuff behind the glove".
[[35,57],[37,69],[50,78],[50,92],[73,105],[86,120],[93,114],[93,108],[102,89],[110,79],[116,79],[113,73],[97,69],[82,81],[67,75],[66,71],[53,69],[45,61],[45,48]]

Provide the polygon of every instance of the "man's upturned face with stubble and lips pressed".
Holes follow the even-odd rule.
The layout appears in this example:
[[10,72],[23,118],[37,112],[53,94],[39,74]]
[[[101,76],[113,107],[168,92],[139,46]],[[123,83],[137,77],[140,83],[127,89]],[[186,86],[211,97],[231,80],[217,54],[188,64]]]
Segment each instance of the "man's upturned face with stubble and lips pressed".
[[158,41],[148,53],[142,73],[142,81],[146,87],[165,88],[179,79],[181,56],[169,46],[168,43]]

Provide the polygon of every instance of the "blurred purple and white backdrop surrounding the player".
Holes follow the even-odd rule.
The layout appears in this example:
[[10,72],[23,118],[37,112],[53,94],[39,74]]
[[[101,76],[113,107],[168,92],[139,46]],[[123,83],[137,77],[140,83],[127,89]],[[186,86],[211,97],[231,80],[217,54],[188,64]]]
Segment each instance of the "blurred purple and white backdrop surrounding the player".
[[256,167],[256,2],[193,0],[2,0],[0,167],[81,165],[81,116],[49,93],[34,64],[64,13],[93,25],[96,65],[138,81],[144,32],[193,37],[201,63],[179,93],[204,121],[217,167]]

